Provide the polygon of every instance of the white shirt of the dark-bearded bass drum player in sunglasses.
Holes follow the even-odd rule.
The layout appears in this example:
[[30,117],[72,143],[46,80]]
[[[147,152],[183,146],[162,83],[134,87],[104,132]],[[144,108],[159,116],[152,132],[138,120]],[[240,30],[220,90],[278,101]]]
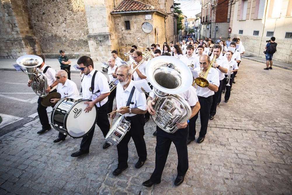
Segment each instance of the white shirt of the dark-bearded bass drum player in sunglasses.
[[[92,76],[94,74],[94,72],[96,71],[96,69],[94,68],[88,75],[84,75],[82,76],[81,80],[81,89],[82,89],[82,97],[84,99],[89,99],[92,95],[91,100],[95,100],[96,98],[98,98],[98,96],[100,96],[101,94],[105,94],[105,93],[109,93],[109,84],[107,82],[107,78],[105,77],[104,74],[102,74],[100,71],[97,71],[96,75],[95,75],[95,79],[94,79],[94,92],[100,90],[100,92],[96,93],[96,94],[92,94],[92,92],[89,90],[89,88],[91,88],[91,79]],[[101,107],[102,105],[104,105],[107,102],[108,98],[106,97],[105,99],[101,100],[100,102],[96,103],[97,107]]]

